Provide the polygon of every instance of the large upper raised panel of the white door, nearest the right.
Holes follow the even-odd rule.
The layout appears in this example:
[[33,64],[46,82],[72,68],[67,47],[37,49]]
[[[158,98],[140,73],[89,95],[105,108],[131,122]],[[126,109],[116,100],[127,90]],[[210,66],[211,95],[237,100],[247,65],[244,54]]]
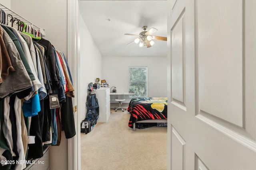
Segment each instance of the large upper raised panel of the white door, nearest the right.
[[196,9],[199,114],[242,127],[242,1],[197,0]]

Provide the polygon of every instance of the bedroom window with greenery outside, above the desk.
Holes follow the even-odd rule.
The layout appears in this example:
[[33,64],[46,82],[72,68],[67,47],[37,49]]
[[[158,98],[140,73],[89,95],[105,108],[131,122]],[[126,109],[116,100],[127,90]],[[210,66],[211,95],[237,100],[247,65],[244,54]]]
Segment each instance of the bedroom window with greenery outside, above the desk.
[[148,96],[148,68],[129,67],[129,87],[136,97]]

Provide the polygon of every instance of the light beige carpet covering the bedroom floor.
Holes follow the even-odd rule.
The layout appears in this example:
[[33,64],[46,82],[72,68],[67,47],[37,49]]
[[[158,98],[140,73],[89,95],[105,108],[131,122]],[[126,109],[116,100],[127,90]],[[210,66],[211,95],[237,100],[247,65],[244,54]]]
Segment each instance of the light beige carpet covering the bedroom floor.
[[81,133],[82,170],[166,170],[167,128],[132,131],[130,114],[111,109],[107,123]]

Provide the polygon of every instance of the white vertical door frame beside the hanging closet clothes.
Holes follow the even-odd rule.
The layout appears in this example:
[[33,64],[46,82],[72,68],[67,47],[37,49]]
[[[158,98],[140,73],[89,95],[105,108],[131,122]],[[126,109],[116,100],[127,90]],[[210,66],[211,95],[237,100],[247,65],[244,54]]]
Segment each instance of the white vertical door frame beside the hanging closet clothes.
[[[72,74],[74,94],[73,106],[77,106],[78,103],[78,90],[79,90],[79,49],[80,41],[78,36],[78,14],[79,0],[67,0],[68,3],[68,63]],[[81,152],[80,152],[80,123],[78,117],[78,110],[74,113],[74,120],[76,126],[76,135],[68,139],[68,170],[80,170],[81,169]]]

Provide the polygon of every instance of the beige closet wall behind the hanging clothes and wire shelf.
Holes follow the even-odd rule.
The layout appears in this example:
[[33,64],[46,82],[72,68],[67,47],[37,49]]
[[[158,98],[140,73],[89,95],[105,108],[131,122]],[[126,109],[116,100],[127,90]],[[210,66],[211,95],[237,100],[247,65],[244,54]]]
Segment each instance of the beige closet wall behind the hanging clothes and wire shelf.
[[[44,38],[64,55],[67,54],[67,0],[11,0],[11,10],[36,26],[44,28]],[[60,146],[50,147],[50,169],[67,168],[68,141],[62,131]]]

